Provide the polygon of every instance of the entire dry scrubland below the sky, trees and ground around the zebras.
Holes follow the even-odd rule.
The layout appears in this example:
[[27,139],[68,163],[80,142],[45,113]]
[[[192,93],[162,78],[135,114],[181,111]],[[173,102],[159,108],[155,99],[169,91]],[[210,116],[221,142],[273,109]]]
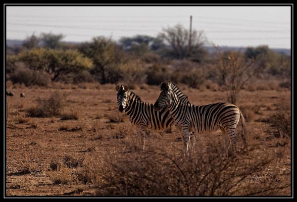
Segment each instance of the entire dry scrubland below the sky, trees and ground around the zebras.
[[[188,34],[178,25],[82,44],[42,34],[6,47],[6,195],[292,195],[291,56],[267,46],[210,52],[202,32],[191,46]],[[143,151],[114,86],[153,103],[164,80],[194,104],[236,103],[248,147],[234,155],[220,132],[195,134],[184,157],[172,127],[148,130]]]

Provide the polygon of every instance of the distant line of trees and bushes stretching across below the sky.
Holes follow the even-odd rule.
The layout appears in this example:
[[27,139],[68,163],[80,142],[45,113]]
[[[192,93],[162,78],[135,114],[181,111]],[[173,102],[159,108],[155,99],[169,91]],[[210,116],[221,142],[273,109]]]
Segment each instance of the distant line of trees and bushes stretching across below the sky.
[[267,46],[245,51],[214,47],[208,53],[203,32],[193,30],[189,43],[189,30],[182,25],[163,29],[157,37],[137,35],[117,42],[99,36],[73,44],[62,42],[64,37],[33,34],[21,47],[6,47],[6,78],[27,86],[55,81],[158,85],[170,79],[192,88],[211,80],[238,92],[251,77],[291,76],[291,56]]

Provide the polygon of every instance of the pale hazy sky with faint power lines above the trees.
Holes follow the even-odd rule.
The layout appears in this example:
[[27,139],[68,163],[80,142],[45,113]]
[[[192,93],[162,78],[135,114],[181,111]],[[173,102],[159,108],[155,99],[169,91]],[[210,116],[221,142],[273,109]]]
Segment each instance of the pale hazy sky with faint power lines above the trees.
[[[7,4],[6,4],[7,5]],[[162,28],[183,24],[203,30],[218,46],[291,47],[290,6],[7,6],[6,39],[33,33],[64,34],[63,41],[90,41],[94,36],[156,37]]]

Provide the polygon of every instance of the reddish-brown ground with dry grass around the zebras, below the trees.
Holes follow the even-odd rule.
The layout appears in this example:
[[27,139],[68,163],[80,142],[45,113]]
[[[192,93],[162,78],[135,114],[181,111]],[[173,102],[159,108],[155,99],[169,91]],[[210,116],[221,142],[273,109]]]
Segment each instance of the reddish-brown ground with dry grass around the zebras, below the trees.
[[[32,106],[38,97],[49,98],[52,89],[16,86],[15,95],[23,92],[26,99],[7,98],[8,102],[13,102],[6,126],[7,196],[291,194],[291,187],[287,186],[292,173],[291,138],[274,137],[268,119],[281,111],[282,105],[288,105],[278,103],[290,100],[288,90],[242,91],[238,106],[241,110],[242,105],[247,106],[253,112],[252,121],[247,122],[247,142],[257,145],[256,148],[247,149],[239,157],[231,153],[227,156],[219,131],[213,135],[195,133],[199,143],[194,149],[195,155],[184,158],[183,143],[174,127],[160,134],[158,131],[151,131],[154,135],[147,134],[143,152],[140,137],[134,134],[136,130],[127,115],[118,112],[114,85],[101,85],[98,91],[78,87],[72,90],[73,87],[69,85],[60,92],[68,94],[67,108],[79,111],[79,120],[62,121],[60,115],[27,118],[25,112],[19,110],[21,104],[24,109]],[[221,91],[200,91],[185,85],[181,88],[191,103],[226,101]],[[138,87],[135,92],[143,101],[153,103],[159,87],[148,86],[147,90]],[[264,103],[260,107],[259,101]],[[61,114],[63,112],[65,108]],[[19,117],[25,117],[27,123],[17,124]],[[38,125],[36,129],[30,127],[32,122]],[[212,173],[207,175],[210,171]],[[251,174],[247,175],[249,171]],[[201,181],[204,176],[205,181]],[[239,183],[234,187],[236,182]],[[231,186],[233,188],[227,191]]]

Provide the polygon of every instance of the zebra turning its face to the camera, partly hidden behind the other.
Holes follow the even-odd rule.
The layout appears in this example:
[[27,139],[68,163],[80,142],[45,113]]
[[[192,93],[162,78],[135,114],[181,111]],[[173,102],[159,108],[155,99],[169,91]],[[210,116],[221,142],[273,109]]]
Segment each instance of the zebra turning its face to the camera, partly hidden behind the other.
[[[117,103],[119,111],[126,113],[133,125],[138,127],[141,140],[143,141],[143,149],[145,149],[145,134],[146,128],[154,130],[164,130],[170,128],[174,120],[170,115],[168,109],[155,111],[153,104],[141,101],[140,97],[128,90],[128,86],[116,86]],[[190,103],[188,97],[184,95],[176,86],[172,89],[177,98],[182,103]]]

